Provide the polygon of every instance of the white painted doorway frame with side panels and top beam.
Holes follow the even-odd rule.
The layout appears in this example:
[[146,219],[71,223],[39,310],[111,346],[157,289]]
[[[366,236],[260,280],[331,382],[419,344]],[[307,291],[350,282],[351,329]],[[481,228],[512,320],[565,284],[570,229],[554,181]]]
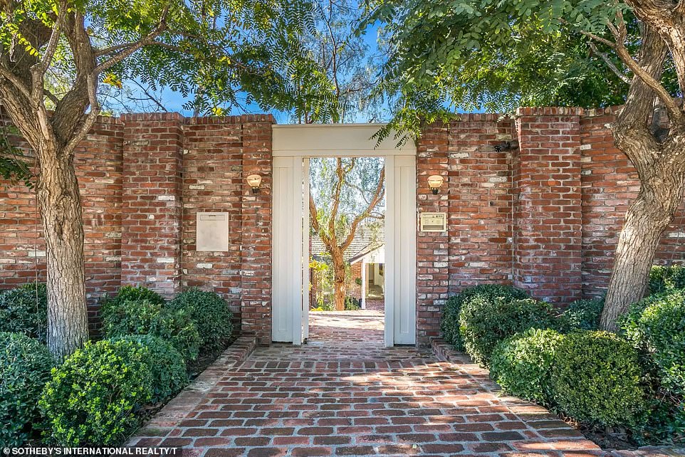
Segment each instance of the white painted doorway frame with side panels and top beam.
[[416,148],[376,145],[380,125],[273,126],[272,340],[301,345],[309,331],[309,159],[383,157],[385,345],[416,343]]

